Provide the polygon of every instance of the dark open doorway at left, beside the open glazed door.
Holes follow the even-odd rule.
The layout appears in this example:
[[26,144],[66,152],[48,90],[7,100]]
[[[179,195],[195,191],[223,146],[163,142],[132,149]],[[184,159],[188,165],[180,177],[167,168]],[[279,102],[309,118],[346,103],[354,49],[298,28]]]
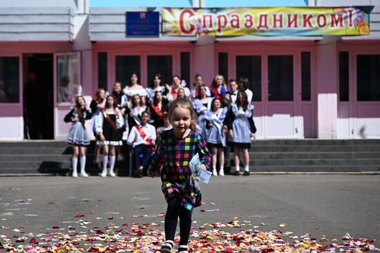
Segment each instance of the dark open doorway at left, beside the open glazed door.
[[54,139],[53,54],[23,55],[24,138]]

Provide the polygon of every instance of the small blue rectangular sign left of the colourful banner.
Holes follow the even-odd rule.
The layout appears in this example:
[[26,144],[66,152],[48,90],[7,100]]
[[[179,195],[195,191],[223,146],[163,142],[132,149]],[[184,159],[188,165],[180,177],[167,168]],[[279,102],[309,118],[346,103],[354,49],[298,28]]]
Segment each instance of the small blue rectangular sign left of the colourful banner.
[[126,37],[158,37],[160,12],[126,12]]

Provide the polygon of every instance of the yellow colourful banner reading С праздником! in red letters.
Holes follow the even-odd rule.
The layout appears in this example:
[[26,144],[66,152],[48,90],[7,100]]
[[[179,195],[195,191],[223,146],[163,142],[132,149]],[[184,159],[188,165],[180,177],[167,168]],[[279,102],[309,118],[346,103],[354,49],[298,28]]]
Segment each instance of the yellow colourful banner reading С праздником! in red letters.
[[163,8],[167,36],[369,35],[373,6]]

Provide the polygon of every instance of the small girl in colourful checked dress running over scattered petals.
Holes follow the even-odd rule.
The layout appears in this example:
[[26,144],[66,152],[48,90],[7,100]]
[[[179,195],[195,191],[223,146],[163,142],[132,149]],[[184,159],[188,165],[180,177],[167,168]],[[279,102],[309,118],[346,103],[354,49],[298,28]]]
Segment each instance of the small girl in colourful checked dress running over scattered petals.
[[175,229],[180,217],[180,245],[178,252],[188,252],[191,211],[201,204],[201,194],[189,168],[191,158],[199,154],[200,169],[208,169],[211,155],[205,139],[196,131],[196,112],[191,102],[178,98],[171,104],[168,117],[173,129],[163,131],[148,168],[148,176],[162,167],[162,192],[167,200],[165,237],[160,252],[171,253]]

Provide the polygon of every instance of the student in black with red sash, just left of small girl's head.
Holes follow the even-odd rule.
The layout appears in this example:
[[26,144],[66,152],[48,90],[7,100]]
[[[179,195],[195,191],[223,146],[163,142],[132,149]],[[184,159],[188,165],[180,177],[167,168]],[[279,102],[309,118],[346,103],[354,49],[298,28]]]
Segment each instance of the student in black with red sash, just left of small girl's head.
[[169,110],[169,102],[162,95],[161,91],[156,91],[153,97],[153,102],[150,106],[151,111],[151,122],[153,126],[158,129],[159,127],[164,126],[164,118],[167,115]]

